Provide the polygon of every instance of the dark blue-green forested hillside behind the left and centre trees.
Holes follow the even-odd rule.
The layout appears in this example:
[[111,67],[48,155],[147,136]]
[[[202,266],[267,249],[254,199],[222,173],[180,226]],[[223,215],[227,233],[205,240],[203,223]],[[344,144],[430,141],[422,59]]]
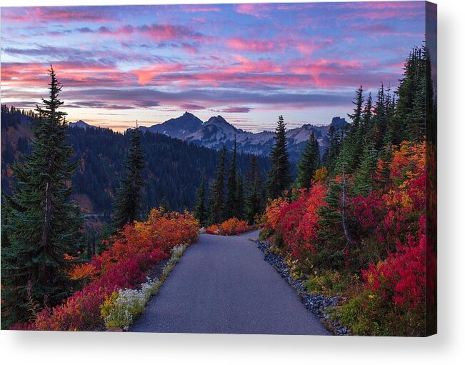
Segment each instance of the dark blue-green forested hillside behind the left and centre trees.
[[[1,109],[1,189],[6,194],[11,192],[9,164],[30,151],[32,115],[6,106]],[[73,160],[81,161],[72,176],[76,201],[86,214],[110,214],[124,173],[129,134],[76,126],[68,128],[66,134],[75,153]],[[142,146],[146,154],[144,213],[159,205],[176,211],[192,209],[202,170],[207,181],[214,178],[219,151],[150,131],[142,134]],[[237,169],[244,175],[250,157],[237,154]],[[264,157],[257,157],[257,161],[264,173],[269,162]]]

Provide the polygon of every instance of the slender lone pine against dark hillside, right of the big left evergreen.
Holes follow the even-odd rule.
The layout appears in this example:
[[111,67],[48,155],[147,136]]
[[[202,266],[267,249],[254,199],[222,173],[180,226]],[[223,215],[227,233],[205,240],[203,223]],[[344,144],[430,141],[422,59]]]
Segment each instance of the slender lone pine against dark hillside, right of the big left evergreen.
[[128,132],[131,147],[126,156],[126,176],[116,193],[114,201],[114,226],[122,228],[139,218],[142,204],[142,192],[145,186],[143,177],[145,154],[141,146],[141,130],[136,126]]

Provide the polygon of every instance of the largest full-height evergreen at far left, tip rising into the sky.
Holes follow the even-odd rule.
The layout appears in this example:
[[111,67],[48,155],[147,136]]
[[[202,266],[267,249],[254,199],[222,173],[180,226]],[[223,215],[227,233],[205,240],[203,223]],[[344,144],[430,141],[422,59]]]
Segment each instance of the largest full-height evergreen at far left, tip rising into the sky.
[[2,328],[29,319],[28,285],[30,299],[40,304],[55,305],[69,296],[74,284],[66,271],[84,248],[79,232],[83,216],[71,201],[69,184],[79,161],[69,163],[73,151],[66,144],[61,84],[52,66],[49,76],[49,99],[36,109],[31,154],[12,166],[16,184],[8,216],[2,211],[2,234],[7,236],[1,252]]

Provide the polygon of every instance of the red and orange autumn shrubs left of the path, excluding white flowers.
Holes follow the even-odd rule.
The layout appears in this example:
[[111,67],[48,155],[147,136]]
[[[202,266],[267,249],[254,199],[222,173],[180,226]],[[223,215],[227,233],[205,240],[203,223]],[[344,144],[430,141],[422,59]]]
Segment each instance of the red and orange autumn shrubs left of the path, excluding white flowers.
[[147,221],[126,225],[106,241],[106,251],[69,273],[73,279],[84,280],[83,289],[64,304],[41,311],[35,329],[82,331],[101,326],[106,296],[141,284],[151,265],[166,259],[176,244],[195,241],[198,231],[199,222],[189,213],[152,209]]

